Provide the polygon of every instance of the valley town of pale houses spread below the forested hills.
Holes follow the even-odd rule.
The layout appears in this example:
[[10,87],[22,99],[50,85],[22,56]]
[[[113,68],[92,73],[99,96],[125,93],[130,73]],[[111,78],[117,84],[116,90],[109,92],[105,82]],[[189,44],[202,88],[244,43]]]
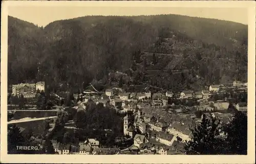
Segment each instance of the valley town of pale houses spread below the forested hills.
[[[203,116],[218,118],[220,126],[223,126],[232,121],[234,111],[247,112],[247,83],[237,80],[232,84],[211,85],[202,91],[182,92],[160,90],[154,93],[150,87],[142,89],[142,92],[127,92],[121,85],[99,92],[92,84],[87,90],[76,94],[46,93],[45,88],[43,81],[11,86],[8,100],[9,125],[20,124],[20,131],[28,133],[22,125],[27,121],[34,126],[36,124],[33,123],[38,121],[29,117],[29,113],[40,111],[38,114],[47,114],[55,111],[53,115],[46,115],[44,120],[40,120],[39,124],[42,121],[48,123],[44,129],[45,136],[36,135],[36,132],[29,136],[40,146],[46,145],[47,138],[51,139],[50,144],[55,154],[185,154],[185,143],[193,138],[191,129],[202,122]],[[44,102],[46,94],[49,97]],[[120,126],[118,135],[111,134],[114,133],[113,129],[101,129],[103,132],[97,135],[77,137],[74,133],[82,128],[78,127],[78,119],[74,119],[75,114],[72,114],[60,129],[64,135],[60,139],[54,138],[58,133],[54,129],[62,113],[69,113],[69,109],[73,113],[87,112],[92,103],[104,110],[114,110],[121,117],[122,121],[116,125]],[[26,113],[27,119],[14,120],[15,113],[19,115],[19,112]],[[113,144],[103,141],[99,135],[108,138],[115,136]],[[220,136],[225,137],[225,134],[221,132]]]

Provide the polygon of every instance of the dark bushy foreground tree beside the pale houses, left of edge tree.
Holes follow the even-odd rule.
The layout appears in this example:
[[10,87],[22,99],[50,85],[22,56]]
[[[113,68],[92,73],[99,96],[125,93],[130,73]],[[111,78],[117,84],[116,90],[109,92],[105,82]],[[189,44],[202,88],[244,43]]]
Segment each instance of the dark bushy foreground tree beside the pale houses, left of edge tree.
[[222,154],[222,139],[218,138],[220,131],[220,120],[211,117],[207,119],[203,115],[203,119],[200,125],[195,129],[191,129],[193,133],[193,139],[186,142],[185,151],[186,154]]

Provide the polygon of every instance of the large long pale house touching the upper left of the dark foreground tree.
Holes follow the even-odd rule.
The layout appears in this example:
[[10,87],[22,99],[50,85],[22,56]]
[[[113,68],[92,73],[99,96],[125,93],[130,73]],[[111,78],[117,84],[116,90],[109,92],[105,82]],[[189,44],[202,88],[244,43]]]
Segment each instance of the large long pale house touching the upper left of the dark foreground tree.
[[178,136],[180,139],[182,139],[182,142],[190,141],[193,136],[191,130],[189,130],[187,126],[177,122],[174,122],[172,125],[170,125],[167,131],[176,137]]

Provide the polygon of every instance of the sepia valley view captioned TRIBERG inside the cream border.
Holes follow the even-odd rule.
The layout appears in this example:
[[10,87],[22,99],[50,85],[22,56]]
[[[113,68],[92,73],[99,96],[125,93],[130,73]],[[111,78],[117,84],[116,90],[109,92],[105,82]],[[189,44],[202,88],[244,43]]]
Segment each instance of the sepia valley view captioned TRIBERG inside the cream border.
[[6,14],[7,154],[248,155],[247,8],[37,4]]

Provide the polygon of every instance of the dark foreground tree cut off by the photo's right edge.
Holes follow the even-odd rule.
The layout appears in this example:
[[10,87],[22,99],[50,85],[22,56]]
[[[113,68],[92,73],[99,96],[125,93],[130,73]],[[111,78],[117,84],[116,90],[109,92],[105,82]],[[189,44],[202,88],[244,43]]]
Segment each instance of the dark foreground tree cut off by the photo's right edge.
[[227,134],[227,154],[247,154],[247,123],[247,115],[238,111],[224,128]]

